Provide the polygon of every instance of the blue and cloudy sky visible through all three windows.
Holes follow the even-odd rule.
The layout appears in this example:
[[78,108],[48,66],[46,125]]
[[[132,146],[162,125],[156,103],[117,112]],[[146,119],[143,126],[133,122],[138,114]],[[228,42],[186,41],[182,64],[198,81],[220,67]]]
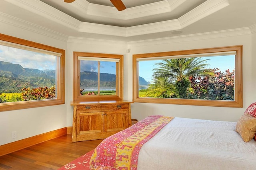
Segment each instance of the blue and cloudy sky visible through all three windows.
[[[202,59],[209,59],[207,63],[209,68],[220,68],[219,71],[225,72],[230,69],[232,71],[235,67],[235,56],[216,56],[216,57],[202,57]],[[20,64],[24,68],[36,68],[39,70],[50,69],[55,70],[55,57],[42,53],[16,49],[0,45],[0,61],[10,62],[13,64]],[[46,62],[47,61],[47,62]],[[139,76],[143,77],[147,82],[152,81],[152,69],[156,67],[155,63],[158,61],[140,61]],[[100,72],[116,74],[115,62],[100,62]],[[98,72],[97,61],[81,61],[80,66],[82,71]]]

